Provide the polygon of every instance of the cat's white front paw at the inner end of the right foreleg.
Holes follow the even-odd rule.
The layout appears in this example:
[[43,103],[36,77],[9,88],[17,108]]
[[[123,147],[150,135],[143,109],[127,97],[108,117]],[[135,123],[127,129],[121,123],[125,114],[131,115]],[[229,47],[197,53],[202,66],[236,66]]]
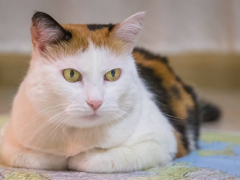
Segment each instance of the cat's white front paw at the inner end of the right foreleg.
[[112,163],[106,156],[104,156],[104,152],[102,151],[104,150],[90,150],[70,157],[68,168],[81,172],[112,172]]

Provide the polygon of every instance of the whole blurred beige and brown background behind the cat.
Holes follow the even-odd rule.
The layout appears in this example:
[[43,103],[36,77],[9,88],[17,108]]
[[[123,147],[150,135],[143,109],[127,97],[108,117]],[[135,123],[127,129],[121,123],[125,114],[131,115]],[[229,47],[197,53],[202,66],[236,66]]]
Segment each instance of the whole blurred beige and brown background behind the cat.
[[240,130],[239,0],[0,0],[0,115],[13,97],[31,58],[31,17],[43,11],[59,23],[120,22],[147,11],[137,46],[168,56],[176,73],[218,104],[216,130]]

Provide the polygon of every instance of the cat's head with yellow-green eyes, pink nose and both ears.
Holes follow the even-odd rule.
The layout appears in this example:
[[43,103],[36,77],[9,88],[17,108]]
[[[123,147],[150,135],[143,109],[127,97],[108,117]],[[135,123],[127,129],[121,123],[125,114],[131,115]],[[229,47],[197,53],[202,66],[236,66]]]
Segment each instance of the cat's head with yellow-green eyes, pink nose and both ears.
[[137,102],[138,75],[132,49],[144,12],[122,23],[64,24],[36,12],[33,58],[25,90],[48,119],[92,127],[126,117]]

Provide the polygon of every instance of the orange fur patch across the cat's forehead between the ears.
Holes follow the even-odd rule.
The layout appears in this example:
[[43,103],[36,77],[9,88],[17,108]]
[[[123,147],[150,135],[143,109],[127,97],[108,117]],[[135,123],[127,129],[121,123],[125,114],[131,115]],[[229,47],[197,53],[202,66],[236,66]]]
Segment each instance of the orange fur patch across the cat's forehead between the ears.
[[78,52],[84,52],[89,46],[89,40],[96,47],[107,47],[116,54],[123,53],[125,44],[114,37],[114,31],[107,27],[91,31],[84,24],[65,24],[62,27],[72,33],[72,38],[65,42],[49,45],[46,47],[45,57],[57,59],[59,56],[69,56]]

